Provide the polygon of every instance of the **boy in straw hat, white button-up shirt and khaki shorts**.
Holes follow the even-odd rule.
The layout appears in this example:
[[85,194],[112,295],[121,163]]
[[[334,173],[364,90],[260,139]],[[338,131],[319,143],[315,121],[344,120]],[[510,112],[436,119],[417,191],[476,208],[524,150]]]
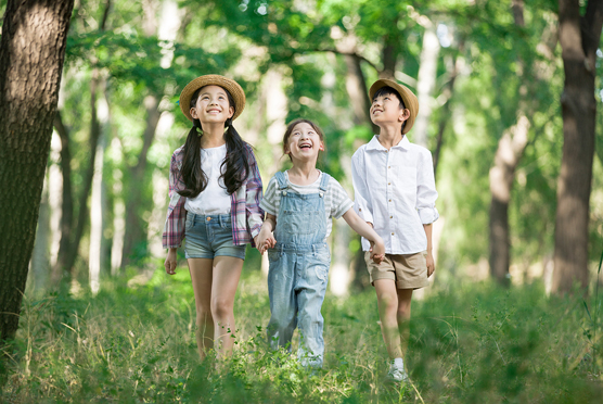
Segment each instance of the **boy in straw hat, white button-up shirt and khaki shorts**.
[[[406,381],[402,358],[408,348],[412,291],[426,287],[435,270],[432,223],[439,217],[437,191],[431,152],[406,136],[419,112],[414,93],[394,80],[380,79],[369,96],[371,121],[381,131],[351,157],[355,210],[385,242],[381,265],[368,255],[364,258],[392,361],[388,377]],[[370,250],[365,239],[362,250]]]

